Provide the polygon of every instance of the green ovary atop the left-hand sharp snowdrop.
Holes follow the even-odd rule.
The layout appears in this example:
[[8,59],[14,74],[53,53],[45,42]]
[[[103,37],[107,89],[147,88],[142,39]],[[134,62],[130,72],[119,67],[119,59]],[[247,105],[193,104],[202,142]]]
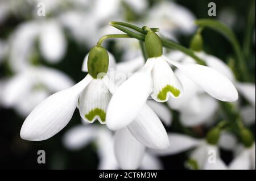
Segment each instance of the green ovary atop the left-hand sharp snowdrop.
[[102,73],[107,73],[109,68],[109,54],[104,47],[93,47],[88,56],[87,61],[88,73],[93,78],[98,77]]

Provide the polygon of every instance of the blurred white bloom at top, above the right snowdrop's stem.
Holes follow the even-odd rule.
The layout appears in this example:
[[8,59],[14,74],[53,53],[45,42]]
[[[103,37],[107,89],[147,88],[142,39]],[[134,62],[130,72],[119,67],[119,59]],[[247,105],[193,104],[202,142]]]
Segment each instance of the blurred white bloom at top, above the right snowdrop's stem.
[[193,33],[196,29],[195,15],[175,2],[162,1],[149,10],[147,26],[159,27],[162,34],[172,37],[175,32]]

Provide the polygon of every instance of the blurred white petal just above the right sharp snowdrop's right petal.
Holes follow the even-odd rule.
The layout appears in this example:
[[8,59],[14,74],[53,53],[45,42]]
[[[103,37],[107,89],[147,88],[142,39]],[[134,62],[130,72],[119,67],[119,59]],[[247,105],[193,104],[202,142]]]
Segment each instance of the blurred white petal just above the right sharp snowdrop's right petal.
[[210,54],[206,54],[204,52],[200,52],[200,53],[202,54],[202,56],[199,56],[199,57],[201,57],[210,68],[213,68],[213,69],[219,71],[220,73],[225,75],[232,82],[234,82],[236,80],[232,70],[222,60],[220,60],[220,58],[214,57],[214,56],[212,56]]

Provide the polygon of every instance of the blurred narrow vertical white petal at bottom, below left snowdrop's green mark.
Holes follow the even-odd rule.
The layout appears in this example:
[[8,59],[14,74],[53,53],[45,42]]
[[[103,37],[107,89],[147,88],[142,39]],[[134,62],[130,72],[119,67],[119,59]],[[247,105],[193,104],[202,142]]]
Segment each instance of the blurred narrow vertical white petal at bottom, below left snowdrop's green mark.
[[112,132],[103,127],[98,129],[96,146],[98,156],[100,157],[98,169],[118,169],[118,162],[114,154],[114,137]]

